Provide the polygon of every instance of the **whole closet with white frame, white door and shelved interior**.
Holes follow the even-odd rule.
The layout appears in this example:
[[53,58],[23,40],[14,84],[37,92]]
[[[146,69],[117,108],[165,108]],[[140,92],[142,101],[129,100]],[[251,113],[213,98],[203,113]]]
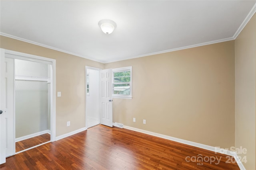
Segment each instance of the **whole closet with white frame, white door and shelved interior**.
[[[56,141],[56,60],[6,49],[0,52],[2,164],[8,156]],[[42,134],[50,137],[16,150],[15,143]]]

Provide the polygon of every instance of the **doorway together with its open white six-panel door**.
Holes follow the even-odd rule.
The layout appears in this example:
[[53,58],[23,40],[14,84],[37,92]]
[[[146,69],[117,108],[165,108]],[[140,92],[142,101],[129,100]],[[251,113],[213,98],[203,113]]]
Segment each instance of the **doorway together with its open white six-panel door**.
[[85,67],[86,127],[102,124],[113,126],[112,69]]

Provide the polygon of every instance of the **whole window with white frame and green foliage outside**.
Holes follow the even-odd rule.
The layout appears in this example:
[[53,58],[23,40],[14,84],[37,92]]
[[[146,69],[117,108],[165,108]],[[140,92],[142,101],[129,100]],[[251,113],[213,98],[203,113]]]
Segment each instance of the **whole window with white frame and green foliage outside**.
[[132,98],[132,67],[112,69],[112,96]]

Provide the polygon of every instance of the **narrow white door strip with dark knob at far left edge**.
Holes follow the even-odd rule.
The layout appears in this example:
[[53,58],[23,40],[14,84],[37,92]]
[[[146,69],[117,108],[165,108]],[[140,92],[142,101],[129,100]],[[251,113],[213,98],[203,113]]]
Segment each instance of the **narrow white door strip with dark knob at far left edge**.
[[5,81],[4,81],[4,49],[0,53],[0,164],[6,162],[5,146],[6,146],[6,131],[5,131]]

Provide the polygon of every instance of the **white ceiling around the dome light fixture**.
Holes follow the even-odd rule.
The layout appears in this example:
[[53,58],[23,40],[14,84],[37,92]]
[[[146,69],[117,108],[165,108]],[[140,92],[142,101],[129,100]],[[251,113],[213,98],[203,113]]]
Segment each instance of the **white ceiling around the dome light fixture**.
[[[101,63],[234,39],[255,0],[3,1],[1,35]],[[102,19],[116,29],[104,34]]]

